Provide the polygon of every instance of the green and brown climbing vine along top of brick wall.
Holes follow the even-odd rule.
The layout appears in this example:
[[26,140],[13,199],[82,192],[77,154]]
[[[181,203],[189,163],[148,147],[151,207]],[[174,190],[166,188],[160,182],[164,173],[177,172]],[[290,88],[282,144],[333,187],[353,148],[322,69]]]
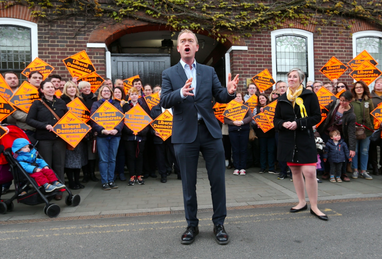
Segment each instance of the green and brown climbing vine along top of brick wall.
[[0,0],[0,3],[27,5],[33,10],[32,15],[49,20],[84,17],[88,22],[102,23],[132,18],[174,30],[203,30],[219,37],[221,42],[227,37],[239,40],[254,31],[296,24],[350,28],[346,19],[339,24],[331,22],[335,16],[365,19],[382,26],[380,0]]

